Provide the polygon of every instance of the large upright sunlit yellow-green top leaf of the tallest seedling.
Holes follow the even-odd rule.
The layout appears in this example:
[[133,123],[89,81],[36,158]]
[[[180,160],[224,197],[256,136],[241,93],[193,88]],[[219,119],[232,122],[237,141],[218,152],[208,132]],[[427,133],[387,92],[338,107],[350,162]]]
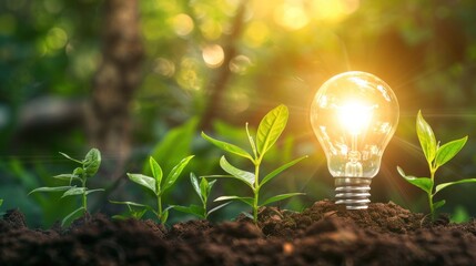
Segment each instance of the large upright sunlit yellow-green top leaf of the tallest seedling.
[[257,152],[261,156],[276,143],[284,127],[286,127],[290,112],[283,104],[271,110],[260,122],[256,134]]

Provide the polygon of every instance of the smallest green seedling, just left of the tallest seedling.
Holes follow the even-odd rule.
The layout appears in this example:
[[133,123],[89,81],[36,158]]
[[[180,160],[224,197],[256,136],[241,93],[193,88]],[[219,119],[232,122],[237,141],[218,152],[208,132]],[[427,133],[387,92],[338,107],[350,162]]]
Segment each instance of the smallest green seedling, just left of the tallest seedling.
[[179,212],[182,213],[189,213],[189,214],[193,214],[200,218],[206,219],[209,218],[209,215],[213,212],[219,211],[220,208],[229,205],[231,202],[221,204],[210,211],[207,211],[207,202],[209,202],[209,196],[210,196],[210,192],[212,191],[213,185],[215,184],[216,180],[213,181],[207,181],[205,177],[202,177],[200,180],[199,183],[199,178],[193,174],[190,173],[190,182],[192,183],[193,190],[195,191],[195,193],[199,195],[200,201],[202,202],[202,205],[195,205],[192,204],[190,206],[173,206],[173,209],[176,209]]

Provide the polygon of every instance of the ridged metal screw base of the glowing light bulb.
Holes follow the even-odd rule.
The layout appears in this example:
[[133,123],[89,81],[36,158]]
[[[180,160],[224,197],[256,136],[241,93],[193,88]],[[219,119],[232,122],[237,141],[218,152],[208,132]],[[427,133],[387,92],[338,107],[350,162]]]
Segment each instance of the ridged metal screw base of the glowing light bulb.
[[344,204],[346,209],[365,209],[371,200],[369,177],[335,177],[335,204]]

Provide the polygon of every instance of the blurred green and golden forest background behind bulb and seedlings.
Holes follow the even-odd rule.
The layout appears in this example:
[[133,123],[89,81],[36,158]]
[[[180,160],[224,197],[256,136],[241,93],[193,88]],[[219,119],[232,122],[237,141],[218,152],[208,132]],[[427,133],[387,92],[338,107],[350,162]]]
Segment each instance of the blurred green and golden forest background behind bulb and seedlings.
[[[475,1],[142,0],[128,1],[136,9],[114,9],[118,2],[0,1],[1,211],[19,207],[31,226],[50,226],[75,204],[54,194],[27,196],[53,184],[52,175],[72,171],[74,165],[58,152],[81,158],[92,145],[104,149],[102,172],[90,186],[108,191],[93,197],[90,207],[113,214],[124,209],[108,200],[148,201],[125,172],[141,172],[149,155],[168,168],[195,154],[185,172],[222,174],[222,152],[200,132],[245,146],[244,124],[256,127],[280,103],[291,116],[265,168],[311,157],[264,193],[305,192],[277,204],[295,211],[332,198],[333,180],[311,130],[308,108],[325,80],[348,70],[385,80],[401,105],[398,130],[372,184],[373,202],[427,212],[425,195],[396,172],[401,165],[407,173],[428,175],[415,133],[419,109],[443,143],[469,135],[437,178],[476,176]],[[114,19],[135,22],[108,35]],[[135,50],[128,50],[128,43]],[[115,49],[123,58],[114,58]],[[117,65],[121,79],[119,85],[105,79],[107,88],[119,89],[103,93],[108,65]],[[110,108],[108,99],[119,100]],[[120,137],[101,141],[98,121]],[[252,166],[229,157],[242,168]],[[444,191],[437,196],[447,200],[443,212],[476,215],[475,190],[468,184]],[[232,181],[217,182],[212,193],[232,191],[247,193]],[[184,175],[164,202],[198,201]],[[211,218],[233,218],[243,209],[234,203]],[[170,218],[190,217],[173,212]]]

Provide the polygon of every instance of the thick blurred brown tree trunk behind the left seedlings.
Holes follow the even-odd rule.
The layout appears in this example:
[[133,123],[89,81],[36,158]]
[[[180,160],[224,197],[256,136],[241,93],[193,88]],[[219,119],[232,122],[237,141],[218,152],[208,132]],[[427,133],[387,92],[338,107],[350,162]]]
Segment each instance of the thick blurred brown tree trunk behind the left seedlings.
[[94,76],[87,125],[92,146],[122,174],[131,152],[130,106],[142,79],[138,0],[103,3],[102,62]]

